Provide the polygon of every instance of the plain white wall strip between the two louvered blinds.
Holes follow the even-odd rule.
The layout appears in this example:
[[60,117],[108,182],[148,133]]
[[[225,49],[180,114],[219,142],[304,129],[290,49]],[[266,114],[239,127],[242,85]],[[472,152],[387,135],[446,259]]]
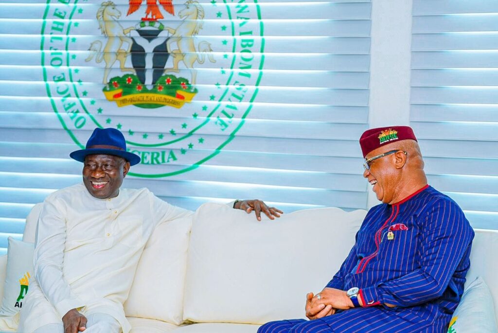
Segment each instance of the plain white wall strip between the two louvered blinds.
[[[373,0],[369,126],[408,125],[412,0]],[[377,205],[369,191],[368,207]]]

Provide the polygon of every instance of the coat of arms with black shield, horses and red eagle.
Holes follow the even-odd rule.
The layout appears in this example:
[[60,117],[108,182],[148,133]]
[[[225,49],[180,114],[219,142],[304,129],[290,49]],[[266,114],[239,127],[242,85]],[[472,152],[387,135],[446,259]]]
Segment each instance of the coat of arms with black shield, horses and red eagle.
[[[143,0],[129,0],[127,16],[137,12]],[[171,0],[159,0],[165,15],[174,16]],[[104,62],[103,93],[108,101],[119,107],[135,105],[141,108],[171,106],[181,108],[192,101],[196,88],[196,63],[206,59],[216,62],[211,44],[197,41],[203,28],[204,9],[195,0],[187,0],[177,16],[182,20],[177,26],[163,23],[164,15],[156,0],[146,1],[145,16],[139,23],[123,27],[119,21],[122,12],[113,1],[102,2],[96,18],[106,41],[96,40],[89,47],[85,61]],[[169,21],[174,22],[174,21]],[[168,63],[168,59],[172,61]],[[128,64],[131,64],[128,65]],[[181,77],[179,64],[189,72]],[[111,77],[113,68],[122,75]]]

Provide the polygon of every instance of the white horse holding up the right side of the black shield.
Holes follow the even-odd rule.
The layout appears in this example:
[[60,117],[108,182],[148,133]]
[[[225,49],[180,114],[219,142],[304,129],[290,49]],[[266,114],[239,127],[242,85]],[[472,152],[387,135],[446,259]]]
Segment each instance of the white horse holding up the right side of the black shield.
[[[176,28],[165,27],[171,34],[166,42],[168,53],[173,56],[173,67],[165,68],[164,73],[179,73],[178,63],[183,61],[185,67],[192,74],[192,86],[195,85],[197,71],[194,70],[194,63],[197,61],[203,64],[206,60],[205,53],[208,53],[209,61],[216,62],[211,52],[211,44],[207,41],[201,41],[197,49],[194,44],[194,36],[202,29],[202,19],[204,18],[204,9],[197,1],[188,0],[185,2],[185,8],[178,12],[178,16],[183,19],[182,23]],[[177,49],[171,50],[171,44],[176,43]]]

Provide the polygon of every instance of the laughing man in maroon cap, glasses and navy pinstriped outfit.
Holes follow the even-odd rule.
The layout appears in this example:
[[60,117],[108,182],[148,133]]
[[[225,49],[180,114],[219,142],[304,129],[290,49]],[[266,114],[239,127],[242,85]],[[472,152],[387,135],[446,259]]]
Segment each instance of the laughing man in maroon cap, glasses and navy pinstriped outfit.
[[446,332],[463,294],[474,231],[460,207],[427,185],[407,126],[360,138],[365,172],[382,204],[373,207],[333,279],[309,293],[304,319],[270,322],[258,333]]

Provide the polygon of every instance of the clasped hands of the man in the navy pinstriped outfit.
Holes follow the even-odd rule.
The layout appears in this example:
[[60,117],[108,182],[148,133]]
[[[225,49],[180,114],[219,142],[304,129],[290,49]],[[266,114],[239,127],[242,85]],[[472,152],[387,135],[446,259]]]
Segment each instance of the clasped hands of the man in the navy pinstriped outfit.
[[313,295],[313,293],[306,295],[306,317],[310,320],[333,315],[338,309],[354,308],[353,302],[344,290],[324,288],[320,292],[320,299],[317,295]]

